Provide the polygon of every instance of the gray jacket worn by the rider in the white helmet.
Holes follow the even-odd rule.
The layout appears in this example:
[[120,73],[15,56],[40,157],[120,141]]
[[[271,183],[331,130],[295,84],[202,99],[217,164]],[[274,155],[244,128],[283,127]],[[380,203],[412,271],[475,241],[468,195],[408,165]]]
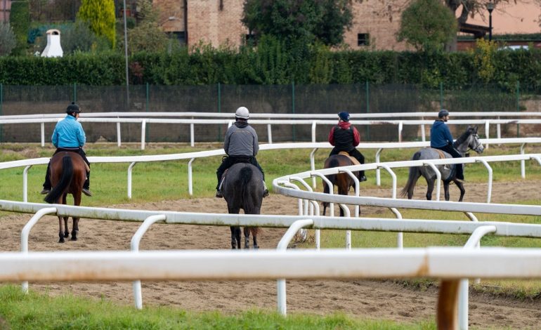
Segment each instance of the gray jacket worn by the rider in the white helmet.
[[223,150],[228,156],[255,157],[259,151],[256,130],[246,123],[235,122],[226,132]]

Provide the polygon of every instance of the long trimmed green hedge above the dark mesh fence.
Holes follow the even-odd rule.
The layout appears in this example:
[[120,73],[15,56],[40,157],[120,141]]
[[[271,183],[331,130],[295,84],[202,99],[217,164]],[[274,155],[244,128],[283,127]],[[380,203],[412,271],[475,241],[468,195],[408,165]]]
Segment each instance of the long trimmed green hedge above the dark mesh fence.
[[[259,48],[203,47],[168,53],[136,53],[129,58],[130,84],[419,84],[427,88],[468,88],[495,84],[513,90],[541,86],[541,51],[411,53],[328,51],[313,47],[304,55],[282,51],[280,44]],[[476,57],[477,56],[477,57]],[[479,75],[478,59],[495,67]],[[125,59],[118,53],[79,53],[63,58],[0,58],[0,84],[112,86],[125,84]],[[477,62],[476,62],[477,61]]]

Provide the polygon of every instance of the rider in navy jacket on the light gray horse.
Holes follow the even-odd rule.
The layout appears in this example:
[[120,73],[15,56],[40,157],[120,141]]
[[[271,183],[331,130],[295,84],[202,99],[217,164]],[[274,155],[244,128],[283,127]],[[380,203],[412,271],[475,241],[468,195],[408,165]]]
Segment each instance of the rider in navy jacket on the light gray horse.
[[[449,120],[449,112],[445,109],[438,112],[438,119],[430,128],[430,147],[447,152],[452,158],[462,158],[455,147],[452,145],[452,135],[445,122]],[[464,181],[464,168],[462,164],[455,164],[457,169],[457,179]]]

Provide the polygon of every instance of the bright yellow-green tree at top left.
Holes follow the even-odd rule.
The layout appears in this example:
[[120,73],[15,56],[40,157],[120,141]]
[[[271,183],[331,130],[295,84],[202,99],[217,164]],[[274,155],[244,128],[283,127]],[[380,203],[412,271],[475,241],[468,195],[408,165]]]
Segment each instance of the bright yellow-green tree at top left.
[[98,36],[115,48],[115,2],[113,0],[82,0],[77,19],[86,22]]

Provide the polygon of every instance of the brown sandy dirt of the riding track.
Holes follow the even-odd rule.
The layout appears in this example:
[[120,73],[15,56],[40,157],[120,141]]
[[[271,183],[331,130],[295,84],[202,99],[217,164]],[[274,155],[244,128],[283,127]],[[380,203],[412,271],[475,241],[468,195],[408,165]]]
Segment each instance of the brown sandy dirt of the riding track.
[[[416,190],[417,199],[424,196],[424,187]],[[466,202],[485,202],[486,185],[466,183]],[[390,197],[386,190],[364,190],[365,196]],[[496,183],[493,202],[514,202],[537,198],[541,185],[537,182]],[[458,190],[451,187],[451,198]],[[477,197],[476,197],[477,196]],[[123,209],[152,209],[164,211],[192,211],[226,213],[223,199],[186,199],[147,204],[126,204]],[[362,208],[363,214],[375,209]],[[297,214],[296,199],[277,194],[263,200],[263,214]],[[361,214],[361,216],[363,216]],[[13,213],[0,219],[0,251],[20,249],[20,231],[30,215]],[[42,219],[30,235],[31,251],[59,250],[129,250],[131,236],[139,223],[82,219],[79,241],[58,244],[58,220]],[[274,249],[284,229],[265,228],[259,237],[261,249]],[[150,227],[141,241],[143,249],[228,249],[228,227],[164,225]],[[51,283],[32,284],[30,289],[59,295],[71,291],[76,295],[110,298],[117,303],[133,304],[131,283]],[[348,315],[374,319],[393,319],[398,322],[434,319],[437,291],[409,289],[391,281],[287,281],[287,311],[325,315],[344,312]],[[237,312],[250,308],[276,309],[276,282],[143,282],[144,305],[175,305],[191,311],[221,310]],[[517,301],[511,298],[472,293],[469,322],[476,328],[540,329],[541,302]]]

